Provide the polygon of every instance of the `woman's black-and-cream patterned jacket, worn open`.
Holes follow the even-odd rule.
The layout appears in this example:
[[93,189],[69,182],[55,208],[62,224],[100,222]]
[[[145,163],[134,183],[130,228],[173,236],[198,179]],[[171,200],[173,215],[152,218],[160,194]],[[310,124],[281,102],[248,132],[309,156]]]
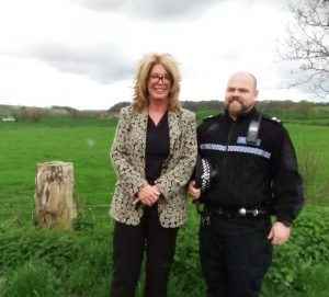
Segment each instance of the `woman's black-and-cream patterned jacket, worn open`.
[[[138,112],[133,105],[123,107],[110,151],[117,182],[110,215],[117,221],[138,225],[143,207],[133,205],[145,180],[145,140],[148,111]],[[168,112],[170,155],[156,181],[162,195],[158,215],[162,227],[177,228],[186,219],[186,183],[192,174],[196,153],[196,122],[194,113],[180,108]]]

